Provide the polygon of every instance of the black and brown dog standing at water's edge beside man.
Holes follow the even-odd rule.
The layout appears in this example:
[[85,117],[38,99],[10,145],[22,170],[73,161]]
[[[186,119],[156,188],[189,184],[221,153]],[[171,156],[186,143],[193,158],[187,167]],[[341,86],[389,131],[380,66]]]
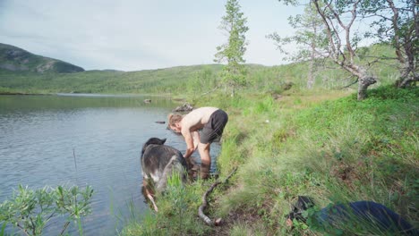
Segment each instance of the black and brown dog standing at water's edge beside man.
[[158,211],[154,194],[166,189],[167,178],[179,173],[182,181],[187,179],[188,167],[182,153],[174,147],[164,145],[166,139],[151,138],[142,146],[142,186],[155,211]]

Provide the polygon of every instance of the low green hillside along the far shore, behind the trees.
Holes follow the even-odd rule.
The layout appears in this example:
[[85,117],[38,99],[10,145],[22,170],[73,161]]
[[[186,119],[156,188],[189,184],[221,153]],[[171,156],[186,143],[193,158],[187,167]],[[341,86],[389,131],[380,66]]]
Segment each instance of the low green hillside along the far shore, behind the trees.
[[[394,57],[389,46],[371,46],[365,49],[368,56],[387,55]],[[361,56],[362,63],[372,57]],[[315,89],[339,89],[350,84],[351,78],[336,65],[325,61],[315,75]],[[248,74],[246,86],[241,92],[260,94],[281,94],[285,85],[292,82],[294,88],[305,88],[307,63],[290,63],[280,66],[246,65]],[[170,94],[188,97],[199,102],[202,95],[224,87],[220,83],[220,64],[178,66],[173,68],[144,70],[139,72],[86,71],[74,73],[10,72],[0,70],[0,93],[133,93]],[[391,61],[373,64],[370,72],[379,80],[372,86],[394,83],[398,79],[396,64]],[[356,86],[352,87],[356,89]],[[297,98],[296,98],[297,99]],[[295,100],[298,103],[298,100]]]

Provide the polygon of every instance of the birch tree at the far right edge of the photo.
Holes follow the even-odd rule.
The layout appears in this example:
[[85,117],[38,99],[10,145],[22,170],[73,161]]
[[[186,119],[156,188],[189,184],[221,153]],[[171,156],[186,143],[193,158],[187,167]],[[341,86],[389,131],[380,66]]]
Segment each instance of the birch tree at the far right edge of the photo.
[[363,4],[363,18],[372,18],[367,37],[394,47],[399,79],[396,85],[406,88],[419,81],[419,3],[417,0],[371,0]]

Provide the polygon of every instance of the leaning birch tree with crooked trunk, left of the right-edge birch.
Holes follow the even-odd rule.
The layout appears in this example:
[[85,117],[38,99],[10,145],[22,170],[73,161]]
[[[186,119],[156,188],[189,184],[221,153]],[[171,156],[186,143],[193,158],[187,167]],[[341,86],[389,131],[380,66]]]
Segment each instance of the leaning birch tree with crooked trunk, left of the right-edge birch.
[[[279,1],[298,4],[295,0]],[[319,53],[355,77],[353,84],[358,83],[358,100],[363,100],[368,87],[376,83],[377,78],[369,73],[367,66],[355,61],[361,37],[353,27],[360,21],[362,0],[311,0],[310,4],[321,18],[327,42]]]

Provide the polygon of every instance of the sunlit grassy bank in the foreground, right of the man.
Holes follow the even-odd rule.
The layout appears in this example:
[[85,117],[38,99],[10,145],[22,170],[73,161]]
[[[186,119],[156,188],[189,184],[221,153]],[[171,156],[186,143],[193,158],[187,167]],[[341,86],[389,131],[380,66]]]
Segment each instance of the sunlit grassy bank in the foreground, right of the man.
[[239,169],[209,206],[209,215],[225,223],[214,229],[197,218],[210,182],[196,182],[161,197],[162,210],[128,225],[124,235],[324,234],[304,224],[286,228],[284,215],[297,195],[312,196],[319,206],[372,200],[418,225],[419,89],[372,89],[363,102],[344,91],[291,89],[277,99],[214,94],[199,105],[230,116],[220,178]]

